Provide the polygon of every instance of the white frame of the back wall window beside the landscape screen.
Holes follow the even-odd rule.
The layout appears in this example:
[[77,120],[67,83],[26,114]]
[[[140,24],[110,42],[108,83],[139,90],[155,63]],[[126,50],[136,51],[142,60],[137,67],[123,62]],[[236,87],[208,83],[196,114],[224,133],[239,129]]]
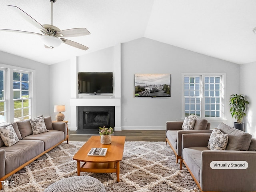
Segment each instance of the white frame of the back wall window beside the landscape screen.
[[[181,106],[181,117],[182,119],[185,118],[185,97],[184,97],[184,77],[185,76],[200,76],[200,86],[201,86],[201,90],[200,90],[200,98],[201,98],[201,118],[204,118],[204,119],[210,119],[210,120],[214,120],[214,119],[217,119],[217,120],[220,120],[220,119],[225,119],[225,107],[224,107],[224,103],[225,103],[225,85],[226,85],[226,73],[182,73],[182,93],[181,93],[181,96],[182,96],[182,106]],[[205,76],[220,76],[220,81],[221,81],[221,92],[220,92],[220,97],[222,98],[220,103],[221,103],[221,107],[222,107],[222,110],[221,110],[221,114],[220,114],[220,117],[206,117],[205,116],[205,96],[204,96],[204,78]]]

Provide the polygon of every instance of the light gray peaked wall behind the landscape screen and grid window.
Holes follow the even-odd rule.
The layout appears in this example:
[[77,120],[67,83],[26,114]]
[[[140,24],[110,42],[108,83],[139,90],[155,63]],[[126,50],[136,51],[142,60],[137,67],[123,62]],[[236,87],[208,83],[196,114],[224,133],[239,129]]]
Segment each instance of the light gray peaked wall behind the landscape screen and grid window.
[[[240,90],[240,66],[175,46],[140,38],[122,44],[122,129],[163,129],[168,120],[181,118],[182,73],[226,73],[225,120],[233,126],[229,96]],[[171,98],[134,98],[135,73],[172,74]],[[124,121],[124,118],[127,121]],[[210,121],[212,127],[218,120]]]

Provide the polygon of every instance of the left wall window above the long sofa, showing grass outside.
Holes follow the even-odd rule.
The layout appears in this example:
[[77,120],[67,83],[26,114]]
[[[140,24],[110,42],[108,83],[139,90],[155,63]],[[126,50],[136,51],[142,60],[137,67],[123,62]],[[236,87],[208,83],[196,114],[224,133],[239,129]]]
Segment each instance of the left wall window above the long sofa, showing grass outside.
[[0,123],[32,117],[34,73],[34,70],[0,64]]

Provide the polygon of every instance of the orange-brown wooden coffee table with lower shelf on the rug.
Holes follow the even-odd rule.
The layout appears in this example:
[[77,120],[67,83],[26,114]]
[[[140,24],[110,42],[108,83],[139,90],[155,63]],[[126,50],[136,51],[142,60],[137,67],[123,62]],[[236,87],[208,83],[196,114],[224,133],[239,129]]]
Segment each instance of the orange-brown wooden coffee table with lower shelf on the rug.
[[[80,172],[116,172],[116,180],[120,181],[120,161],[123,158],[125,136],[111,136],[111,139],[111,144],[103,145],[100,143],[100,136],[92,136],[76,152],[73,159],[77,161],[78,176],[80,176]],[[88,156],[91,148],[108,148],[108,151],[104,157]],[[81,166],[80,162],[84,162],[84,164]]]

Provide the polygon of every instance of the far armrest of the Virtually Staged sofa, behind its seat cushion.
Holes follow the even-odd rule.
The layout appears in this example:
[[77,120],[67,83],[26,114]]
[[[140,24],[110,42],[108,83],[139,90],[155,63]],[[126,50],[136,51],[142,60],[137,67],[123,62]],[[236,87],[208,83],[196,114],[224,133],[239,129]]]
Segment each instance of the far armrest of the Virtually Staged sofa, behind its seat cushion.
[[182,134],[182,150],[188,147],[207,147],[210,133]]

